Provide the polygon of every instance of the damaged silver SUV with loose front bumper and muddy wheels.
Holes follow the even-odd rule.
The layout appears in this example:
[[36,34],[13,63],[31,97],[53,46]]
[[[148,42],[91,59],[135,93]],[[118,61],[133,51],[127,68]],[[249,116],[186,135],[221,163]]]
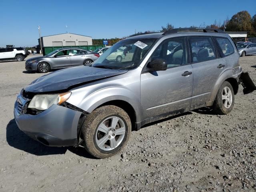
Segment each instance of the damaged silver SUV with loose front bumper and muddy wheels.
[[[122,50],[121,61],[109,59]],[[193,53],[192,53],[193,50]],[[59,70],[21,90],[14,106],[18,127],[47,146],[78,146],[107,158],[132,130],[211,106],[228,114],[242,83],[256,90],[221,30],[174,29],[121,40],[92,66]]]

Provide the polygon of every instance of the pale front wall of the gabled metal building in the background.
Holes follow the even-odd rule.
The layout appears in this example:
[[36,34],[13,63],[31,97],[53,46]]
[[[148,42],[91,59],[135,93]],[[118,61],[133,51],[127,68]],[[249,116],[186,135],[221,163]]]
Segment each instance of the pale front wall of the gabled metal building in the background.
[[45,37],[42,37],[42,39],[43,39],[42,45],[44,47],[52,47],[53,44],[56,44],[53,42],[62,42],[62,46],[70,45],[70,43],[68,43],[68,45],[66,45],[66,42],[75,42],[76,46],[79,45],[79,42],[88,42],[88,45],[92,45],[91,37],[72,34],[72,33],[45,36]]

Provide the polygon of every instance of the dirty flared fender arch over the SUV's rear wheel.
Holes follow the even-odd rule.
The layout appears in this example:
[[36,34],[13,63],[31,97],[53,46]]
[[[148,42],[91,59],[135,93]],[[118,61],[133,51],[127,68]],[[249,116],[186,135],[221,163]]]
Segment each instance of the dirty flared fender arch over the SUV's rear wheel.
[[226,79],[234,78],[234,79],[238,80],[238,77],[240,76],[241,73],[242,73],[242,68],[240,66],[238,66],[234,69],[227,69],[227,70],[223,71],[220,74],[220,76],[218,77],[218,79],[214,85],[214,88],[212,90],[212,94],[210,97],[210,101],[213,102],[215,100],[215,97],[218,93],[218,90],[220,89],[220,86]]

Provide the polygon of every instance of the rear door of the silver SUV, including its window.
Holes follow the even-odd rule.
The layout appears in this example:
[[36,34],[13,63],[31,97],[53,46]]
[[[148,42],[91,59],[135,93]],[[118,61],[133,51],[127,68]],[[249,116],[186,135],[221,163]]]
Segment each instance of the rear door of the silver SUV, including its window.
[[[213,39],[210,36],[190,36],[191,64],[193,68],[193,94],[191,106],[204,104],[211,100],[214,85],[225,69],[226,62],[217,54]],[[193,46],[199,46],[192,54]]]

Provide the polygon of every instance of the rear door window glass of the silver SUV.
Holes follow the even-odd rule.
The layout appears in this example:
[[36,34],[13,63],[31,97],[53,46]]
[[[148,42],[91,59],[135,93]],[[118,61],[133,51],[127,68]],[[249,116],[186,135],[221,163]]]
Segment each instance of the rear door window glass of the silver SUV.
[[192,62],[201,62],[216,58],[215,47],[209,37],[191,37],[188,39]]

